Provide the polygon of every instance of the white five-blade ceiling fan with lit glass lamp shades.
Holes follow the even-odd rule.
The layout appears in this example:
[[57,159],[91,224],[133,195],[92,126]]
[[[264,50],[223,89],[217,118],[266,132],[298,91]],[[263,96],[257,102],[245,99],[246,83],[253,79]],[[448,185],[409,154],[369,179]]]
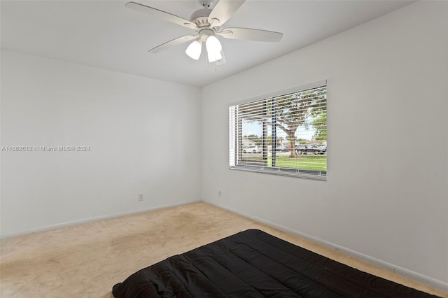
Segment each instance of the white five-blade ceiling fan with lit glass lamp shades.
[[[198,0],[203,8],[196,10],[193,15],[191,15],[190,20],[136,2],[127,2],[125,6],[195,31],[194,34],[181,36],[174,38],[172,41],[162,43],[148,52],[160,52],[161,50],[171,48],[172,46],[193,41],[186,49],[186,54],[189,57],[195,60],[199,59],[202,52],[202,43],[205,43],[208,61],[222,64],[225,62],[225,59],[223,58],[223,47],[216,36],[230,39],[270,42],[278,42],[283,36],[283,34],[279,32],[261,29],[223,29],[223,24],[232,17],[233,13],[238,10],[244,1],[245,0]],[[211,9],[212,6],[214,6],[213,9]]]

